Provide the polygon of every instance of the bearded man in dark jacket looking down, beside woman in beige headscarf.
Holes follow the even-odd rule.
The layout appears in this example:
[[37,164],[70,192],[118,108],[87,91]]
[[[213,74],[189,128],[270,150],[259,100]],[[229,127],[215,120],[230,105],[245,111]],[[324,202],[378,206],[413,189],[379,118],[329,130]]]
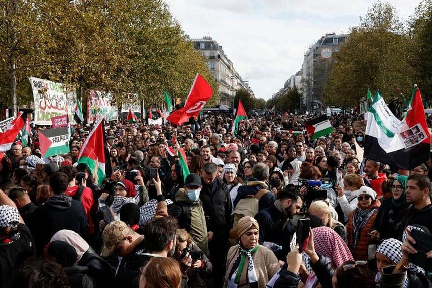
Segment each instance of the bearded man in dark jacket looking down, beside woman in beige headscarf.
[[259,243],[265,241],[281,245],[282,249],[274,252],[281,261],[286,260],[289,243],[295,233],[291,219],[300,212],[302,206],[303,199],[298,189],[294,185],[288,185],[278,192],[272,206],[255,215],[260,226]]

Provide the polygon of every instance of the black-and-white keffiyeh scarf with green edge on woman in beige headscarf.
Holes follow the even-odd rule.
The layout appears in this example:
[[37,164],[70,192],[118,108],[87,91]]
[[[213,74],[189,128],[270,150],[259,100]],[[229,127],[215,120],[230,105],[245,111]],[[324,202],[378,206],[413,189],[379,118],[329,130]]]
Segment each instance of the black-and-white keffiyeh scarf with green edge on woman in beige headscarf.
[[227,283],[228,288],[238,287],[246,258],[248,258],[248,269],[246,270],[246,278],[248,280],[248,284],[250,287],[258,287],[258,279],[255,271],[254,260],[252,259],[252,254],[255,253],[259,247],[260,245],[257,244],[257,246],[255,246],[253,249],[245,250],[240,245],[238,245],[239,255],[237,256],[236,260],[234,261],[233,267],[231,268]]

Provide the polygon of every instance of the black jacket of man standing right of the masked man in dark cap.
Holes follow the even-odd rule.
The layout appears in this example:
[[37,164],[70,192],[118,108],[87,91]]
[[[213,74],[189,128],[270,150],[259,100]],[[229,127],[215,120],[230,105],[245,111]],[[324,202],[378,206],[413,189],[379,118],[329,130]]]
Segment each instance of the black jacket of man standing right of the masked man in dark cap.
[[202,179],[202,189],[199,198],[204,207],[207,231],[212,231],[214,237],[228,239],[231,229],[231,198],[227,185],[216,178],[213,183],[207,185]]

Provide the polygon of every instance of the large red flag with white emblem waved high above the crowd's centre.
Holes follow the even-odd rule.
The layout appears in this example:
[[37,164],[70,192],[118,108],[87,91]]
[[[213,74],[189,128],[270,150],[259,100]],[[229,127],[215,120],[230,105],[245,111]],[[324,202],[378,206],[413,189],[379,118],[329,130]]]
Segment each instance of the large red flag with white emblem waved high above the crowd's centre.
[[213,89],[211,89],[211,86],[201,75],[196,74],[184,107],[172,112],[167,117],[167,120],[175,125],[181,125],[189,120],[190,117],[198,116],[199,111],[201,111],[212,95]]

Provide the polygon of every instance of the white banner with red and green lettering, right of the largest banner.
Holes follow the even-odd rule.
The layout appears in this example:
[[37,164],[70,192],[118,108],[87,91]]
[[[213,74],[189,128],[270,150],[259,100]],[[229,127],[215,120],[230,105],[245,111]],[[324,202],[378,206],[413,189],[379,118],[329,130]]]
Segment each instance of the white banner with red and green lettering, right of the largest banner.
[[111,99],[110,93],[91,90],[87,100],[87,122],[97,122],[104,116],[106,121],[117,120],[118,109],[112,106]]

